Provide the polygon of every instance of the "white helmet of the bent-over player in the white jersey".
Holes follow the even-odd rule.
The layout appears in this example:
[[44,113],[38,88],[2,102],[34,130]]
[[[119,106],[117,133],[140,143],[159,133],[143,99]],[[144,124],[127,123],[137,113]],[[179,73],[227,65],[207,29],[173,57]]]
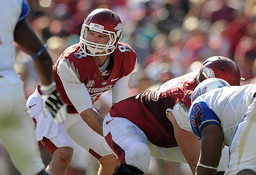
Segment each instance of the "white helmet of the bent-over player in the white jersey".
[[193,103],[198,96],[224,86],[230,86],[230,84],[223,79],[210,78],[202,81],[193,91],[193,94],[191,95],[191,103]]

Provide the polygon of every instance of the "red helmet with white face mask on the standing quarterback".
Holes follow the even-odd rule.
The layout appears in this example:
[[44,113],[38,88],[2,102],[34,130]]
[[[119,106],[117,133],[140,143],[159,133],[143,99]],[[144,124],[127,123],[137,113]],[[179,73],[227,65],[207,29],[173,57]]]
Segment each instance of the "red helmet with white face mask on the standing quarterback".
[[[87,41],[88,30],[109,36],[107,44]],[[122,37],[122,22],[119,16],[107,8],[92,11],[84,20],[81,29],[80,47],[89,56],[105,56],[112,53]],[[86,50],[87,49],[87,50]],[[89,51],[89,53],[88,53]],[[106,53],[102,53],[106,52]]]

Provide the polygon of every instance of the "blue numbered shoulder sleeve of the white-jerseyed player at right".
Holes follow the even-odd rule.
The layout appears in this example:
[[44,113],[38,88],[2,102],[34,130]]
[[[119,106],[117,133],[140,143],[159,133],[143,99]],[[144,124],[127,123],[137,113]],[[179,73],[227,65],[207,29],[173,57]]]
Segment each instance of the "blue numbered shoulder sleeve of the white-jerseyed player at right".
[[193,103],[188,112],[188,119],[193,132],[201,138],[202,129],[208,124],[220,126],[219,117],[210,109],[204,101]]

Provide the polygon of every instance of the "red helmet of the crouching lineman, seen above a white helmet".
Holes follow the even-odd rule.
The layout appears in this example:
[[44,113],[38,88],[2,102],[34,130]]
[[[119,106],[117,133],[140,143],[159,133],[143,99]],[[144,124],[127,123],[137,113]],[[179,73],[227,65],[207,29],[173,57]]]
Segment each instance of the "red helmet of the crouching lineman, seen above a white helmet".
[[241,74],[235,62],[223,56],[212,56],[202,64],[198,81],[208,78],[226,80],[231,86],[240,86]]

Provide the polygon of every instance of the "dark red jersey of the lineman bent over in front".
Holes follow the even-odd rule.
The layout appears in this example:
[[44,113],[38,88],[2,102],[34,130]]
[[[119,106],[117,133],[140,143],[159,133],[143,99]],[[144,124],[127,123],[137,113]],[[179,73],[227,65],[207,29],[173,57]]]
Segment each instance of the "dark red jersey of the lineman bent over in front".
[[196,72],[167,81],[158,88],[144,91],[120,101],[110,109],[111,117],[123,117],[136,124],[154,145],[178,146],[172,122],[167,118],[167,109],[173,109],[180,101],[189,109],[188,97],[197,86]]

